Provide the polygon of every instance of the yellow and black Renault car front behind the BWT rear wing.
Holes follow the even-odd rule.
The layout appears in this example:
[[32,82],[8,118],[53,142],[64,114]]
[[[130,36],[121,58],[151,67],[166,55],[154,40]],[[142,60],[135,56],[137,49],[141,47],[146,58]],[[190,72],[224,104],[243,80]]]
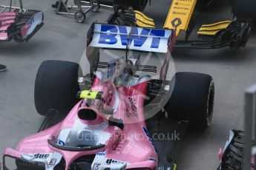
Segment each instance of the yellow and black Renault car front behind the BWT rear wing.
[[[143,1],[143,0],[141,0]],[[147,1],[147,0],[144,0]],[[214,24],[203,24],[197,30],[198,38],[190,39],[190,35],[196,26],[191,20],[197,4],[206,7],[214,0],[173,0],[170,10],[166,16],[163,28],[176,30],[178,41],[176,47],[195,49],[216,49],[231,47],[238,49],[246,47],[249,35],[253,26],[253,19],[256,18],[253,7],[256,7],[255,0],[233,0],[232,21],[217,21]],[[147,1],[148,3],[148,1]],[[155,27],[154,19],[145,16],[141,10],[134,9],[131,1],[115,0],[114,13],[108,18],[109,24]],[[240,8],[243,7],[243,8]],[[251,7],[252,6],[252,7]],[[140,5],[141,9],[145,6]],[[247,9],[252,10],[247,10]]]

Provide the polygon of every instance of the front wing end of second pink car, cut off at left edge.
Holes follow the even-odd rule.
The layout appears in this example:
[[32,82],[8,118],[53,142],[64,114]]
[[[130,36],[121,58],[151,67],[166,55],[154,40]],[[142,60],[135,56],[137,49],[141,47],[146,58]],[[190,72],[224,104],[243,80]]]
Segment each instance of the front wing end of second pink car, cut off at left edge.
[[28,41],[44,24],[44,15],[38,10],[24,10],[22,0],[20,7],[1,5],[0,41]]

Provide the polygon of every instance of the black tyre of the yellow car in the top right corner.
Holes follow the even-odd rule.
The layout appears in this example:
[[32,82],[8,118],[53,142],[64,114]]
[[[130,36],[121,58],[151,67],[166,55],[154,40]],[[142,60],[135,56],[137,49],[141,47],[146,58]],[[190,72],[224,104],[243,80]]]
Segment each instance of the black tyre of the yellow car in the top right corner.
[[236,18],[252,18],[256,21],[256,1],[255,0],[232,0],[232,12]]

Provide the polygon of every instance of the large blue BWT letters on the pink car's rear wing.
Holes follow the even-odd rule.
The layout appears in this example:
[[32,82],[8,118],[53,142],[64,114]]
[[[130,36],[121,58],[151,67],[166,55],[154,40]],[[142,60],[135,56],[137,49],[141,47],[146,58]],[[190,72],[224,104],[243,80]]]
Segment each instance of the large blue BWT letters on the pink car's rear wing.
[[121,44],[125,47],[128,45],[129,39],[129,44],[133,42],[134,47],[142,47],[145,43],[151,43],[151,48],[158,49],[161,38],[165,37],[165,30],[137,27],[132,30],[132,34],[129,37],[130,30],[131,27],[102,25],[99,44],[117,44],[119,38],[121,38]]

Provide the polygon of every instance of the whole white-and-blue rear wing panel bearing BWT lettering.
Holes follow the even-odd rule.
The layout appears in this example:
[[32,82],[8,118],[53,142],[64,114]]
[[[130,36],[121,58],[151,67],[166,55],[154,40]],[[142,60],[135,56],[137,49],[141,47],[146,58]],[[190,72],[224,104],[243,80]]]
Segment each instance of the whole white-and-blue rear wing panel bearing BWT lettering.
[[91,29],[90,47],[166,53],[168,42],[173,42],[169,41],[172,30],[109,24],[94,24]]

